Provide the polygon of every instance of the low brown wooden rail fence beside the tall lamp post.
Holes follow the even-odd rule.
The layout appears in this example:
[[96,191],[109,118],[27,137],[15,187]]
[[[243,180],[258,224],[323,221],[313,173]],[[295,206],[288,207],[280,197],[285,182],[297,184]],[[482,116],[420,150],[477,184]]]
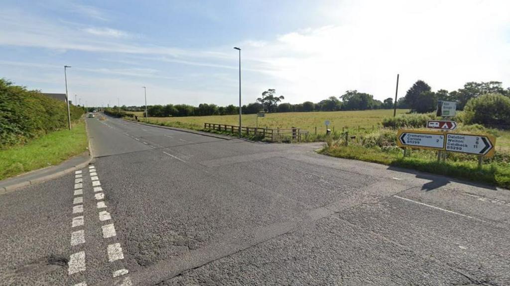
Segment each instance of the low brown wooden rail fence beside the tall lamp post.
[[[233,134],[239,133],[239,126],[226,125],[226,124],[213,124],[204,123],[204,129],[229,132]],[[286,129],[270,129],[270,128],[256,128],[256,127],[241,127],[241,133],[245,135],[261,136],[262,138],[270,141],[284,141],[294,140],[301,141],[301,137],[308,138],[308,131],[300,131],[299,128],[286,128]]]

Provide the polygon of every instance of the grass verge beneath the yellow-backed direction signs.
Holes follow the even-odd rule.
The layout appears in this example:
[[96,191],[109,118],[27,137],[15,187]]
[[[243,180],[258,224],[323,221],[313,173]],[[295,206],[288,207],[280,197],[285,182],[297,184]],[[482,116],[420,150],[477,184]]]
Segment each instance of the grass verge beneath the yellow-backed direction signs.
[[489,162],[484,162],[482,168],[478,169],[475,158],[472,160],[437,162],[433,159],[434,155],[431,151],[413,151],[410,157],[403,157],[402,151],[398,149],[388,152],[358,145],[333,145],[324,147],[319,153],[339,158],[416,169],[427,173],[489,183],[510,189],[510,165],[504,162],[487,160]]

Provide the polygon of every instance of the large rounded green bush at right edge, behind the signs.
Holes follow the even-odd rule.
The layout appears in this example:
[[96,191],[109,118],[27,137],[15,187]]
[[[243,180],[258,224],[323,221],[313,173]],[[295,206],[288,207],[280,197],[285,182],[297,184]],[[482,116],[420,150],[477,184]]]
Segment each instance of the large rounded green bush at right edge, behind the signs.
[[492,93],[470,99],[464,107],[464,122],[510,125],[510,98]]

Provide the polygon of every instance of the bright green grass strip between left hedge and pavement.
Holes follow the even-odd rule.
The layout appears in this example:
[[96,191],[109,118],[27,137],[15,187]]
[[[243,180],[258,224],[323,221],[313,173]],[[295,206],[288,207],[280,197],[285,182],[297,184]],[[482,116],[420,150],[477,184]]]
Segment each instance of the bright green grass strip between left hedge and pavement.
[[85,122],[79,120],[71,130],[51,132],[27,144],[0,150],[0,180],[59,164],[87,147]]

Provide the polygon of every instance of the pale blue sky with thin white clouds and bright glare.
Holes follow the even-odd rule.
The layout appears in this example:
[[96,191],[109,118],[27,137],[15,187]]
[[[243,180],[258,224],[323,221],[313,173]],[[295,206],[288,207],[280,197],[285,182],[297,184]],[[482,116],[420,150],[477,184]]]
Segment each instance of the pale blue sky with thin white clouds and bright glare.
[[510,1],[0,0],[0,77],[88,106],[510,86]]

